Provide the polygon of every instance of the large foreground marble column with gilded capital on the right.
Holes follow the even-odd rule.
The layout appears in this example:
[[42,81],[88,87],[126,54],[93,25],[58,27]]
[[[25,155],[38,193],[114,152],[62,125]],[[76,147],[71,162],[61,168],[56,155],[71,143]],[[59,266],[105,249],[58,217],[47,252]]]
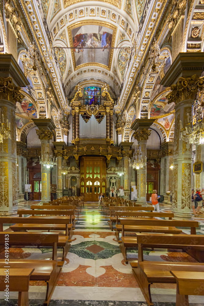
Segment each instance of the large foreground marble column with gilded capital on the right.
[[[190,220],[191,215],[191,165],[192,145],[180,140],[180,123],[185,128],[187,114],[191,114],[192,104],[198,88],[204,84],[198,76],[180,77],[171,86],[167,96],[169,103],[175,102],[175,129],[173,148],[172,212],[175,219]],[[191,118],[190,118],[191,122]]]

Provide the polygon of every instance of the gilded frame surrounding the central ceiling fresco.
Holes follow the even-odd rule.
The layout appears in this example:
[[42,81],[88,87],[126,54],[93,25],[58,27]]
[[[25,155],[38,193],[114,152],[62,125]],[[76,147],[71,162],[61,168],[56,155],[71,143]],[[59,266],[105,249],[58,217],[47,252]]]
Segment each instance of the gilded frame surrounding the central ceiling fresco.
[[[68,31],[68,34],[69,34],[69,43],[70,43],[70,46],[72,48],[73,48],[72,29],[78,28],[79,26],[86,25],[86,24],[89,24],[89,25],[90,24],[97,24],[97,25],[101,25],[101,26],[104,26],[106,28],[109,28],[109,29],[113,30],[111,48],[114,46],[116,32],[117,32],[117,28],[116,27],[114,27],[112,24],[109,24],[109,23],[104,22],[104,21],[87,20],[87,21],[83,21],[83,22],[77,22],[77,23],[72,24],[71,26],[67,27],[67,31]],[[81,69],[83,67],[86,67],[86,66],[98,66],[98,67],[101,67],[101,68],[104,68],[104,69],[107,69],[107,70],[110,71],[111,63],[112,63],[112,59],[113,59],[113,49],[110,49],[108,66],[102,65],[102,64],[99,64],[99,63],[85,63],[85,64],[82,64],[82,65],[76,66],[74,49],[71,49],[71,52],[72,52],[72,61],[73,61],[73,65],[74,65],[74,71],[76,71],[78,69]]]

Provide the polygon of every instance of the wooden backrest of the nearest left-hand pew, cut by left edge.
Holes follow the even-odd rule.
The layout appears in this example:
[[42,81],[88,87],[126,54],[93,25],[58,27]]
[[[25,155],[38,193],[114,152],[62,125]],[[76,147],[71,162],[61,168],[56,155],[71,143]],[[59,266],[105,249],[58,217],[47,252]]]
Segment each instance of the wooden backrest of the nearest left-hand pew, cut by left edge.
[[[6,236],[8,235],[8,236]],[[9,237],[6,241],[5,237]],[[59,240],[59,233],[25,233],[25,232],[0,232],[0,246],[5,245],[5,241],[9,244],[16,246],[42,246],[43,242],[50,243],[52,249],[52,258],[57,260],[57,242]]]

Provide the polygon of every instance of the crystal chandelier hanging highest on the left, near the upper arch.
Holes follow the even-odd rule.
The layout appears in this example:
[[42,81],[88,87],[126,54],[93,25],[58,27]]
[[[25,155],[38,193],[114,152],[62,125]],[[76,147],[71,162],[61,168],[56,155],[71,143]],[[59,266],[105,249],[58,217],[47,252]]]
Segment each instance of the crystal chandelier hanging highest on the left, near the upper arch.
[[34,41],[33,43],[30,43],[30,46],[28,48],[28,56],[26,56],[26,53],[23,54],[21,61],[25,72],[31,73],[33,70],[35,76],[36,71],[38,70],[39,73],[43,75],[44,72],[40,52]]

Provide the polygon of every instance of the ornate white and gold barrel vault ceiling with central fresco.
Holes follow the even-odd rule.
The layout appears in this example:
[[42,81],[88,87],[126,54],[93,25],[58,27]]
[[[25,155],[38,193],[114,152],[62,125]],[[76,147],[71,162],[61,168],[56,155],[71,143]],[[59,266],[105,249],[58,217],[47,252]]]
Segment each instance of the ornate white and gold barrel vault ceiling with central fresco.
[[42,0],[67,95],[89,80],[118,94],[144,2]]

